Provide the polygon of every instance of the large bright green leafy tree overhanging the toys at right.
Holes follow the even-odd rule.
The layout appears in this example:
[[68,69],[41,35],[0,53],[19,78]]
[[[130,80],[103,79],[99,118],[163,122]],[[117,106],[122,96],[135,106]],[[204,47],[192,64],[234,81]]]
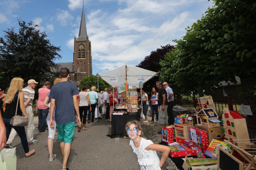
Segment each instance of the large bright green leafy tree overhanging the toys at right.
[[[177,50],[162,61],[161,76],[169,78],[182,92],[210,89],[220,81],[235,82],[235,76],[255,76],[256,2],[215,0],[213,8],[197,20]],[[201,93],[202,94],[202,93]]]

